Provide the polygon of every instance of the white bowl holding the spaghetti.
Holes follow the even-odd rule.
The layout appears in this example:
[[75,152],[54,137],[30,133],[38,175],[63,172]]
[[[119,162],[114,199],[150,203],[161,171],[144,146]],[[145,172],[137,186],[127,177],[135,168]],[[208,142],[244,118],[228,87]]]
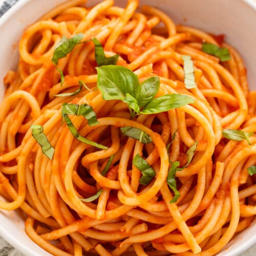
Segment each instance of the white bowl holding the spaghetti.
[[[14,69],[18,58],[18,41],[24,28],[45,12],[66,0],[20,0],[0,18],[0,99],[4,94],[3,78]],[[100,0],[89,0],[88,5]],[[116,0],[123,6],[126,0]],[[157,6],[175,23],[194,26],[209,33],[225,34],[226,41],[241,53],[250,84],[256,90],[256,2],[254,0],[140,0],[140,5]],[[218,255],[236,256],[256,244],[256,221],[239,233]],[[36,245],[24,231],[24,221],[17,212],[0,210],[0,234],[20,252],[29,256],[51,255]]]

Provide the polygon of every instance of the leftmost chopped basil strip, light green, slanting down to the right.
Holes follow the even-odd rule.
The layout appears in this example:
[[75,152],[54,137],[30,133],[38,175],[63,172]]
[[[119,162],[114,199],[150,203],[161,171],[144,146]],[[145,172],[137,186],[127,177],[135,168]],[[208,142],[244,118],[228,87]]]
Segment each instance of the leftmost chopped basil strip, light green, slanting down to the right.
[[44,129],[41,125],[31,125],[32,136],[37,143],[41,146],[42,153],[44,153],[49,159],[52,160],[54,154],[54,148],[51,146],[49,140],[44,134]]

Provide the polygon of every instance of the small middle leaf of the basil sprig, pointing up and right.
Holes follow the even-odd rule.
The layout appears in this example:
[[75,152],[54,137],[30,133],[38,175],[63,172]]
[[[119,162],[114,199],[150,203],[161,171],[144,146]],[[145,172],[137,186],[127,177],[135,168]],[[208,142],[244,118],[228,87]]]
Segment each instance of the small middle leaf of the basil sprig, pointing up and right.
[[137,99],[140,109],[154,99],[159,87],[160,81],[157,76],[146,79],[137,87],[134,97]]

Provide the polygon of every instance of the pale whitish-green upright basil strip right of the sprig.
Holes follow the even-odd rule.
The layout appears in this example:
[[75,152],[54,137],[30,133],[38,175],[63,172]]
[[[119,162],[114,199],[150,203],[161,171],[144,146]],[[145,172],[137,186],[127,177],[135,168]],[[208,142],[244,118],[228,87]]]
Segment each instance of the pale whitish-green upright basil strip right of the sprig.
[[186,89],[197,87],[195,82],[194,64],[189,55],[182,55],[183,70],[184,70],[184,83]]

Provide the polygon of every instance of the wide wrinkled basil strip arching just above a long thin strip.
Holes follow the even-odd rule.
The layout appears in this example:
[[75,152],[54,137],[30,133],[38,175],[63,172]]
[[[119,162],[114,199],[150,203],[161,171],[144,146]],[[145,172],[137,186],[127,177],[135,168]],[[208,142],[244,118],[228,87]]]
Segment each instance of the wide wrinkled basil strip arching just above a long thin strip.
[[78,104],[68,104],[64,102],[61,109],[61,116],[63,116],[64,114],[83,116],[88,120],[88,124],[90,126],[93,126],[99,123],[97,121],[97,116],[93,111],[93,108],[86,103],[78,105]]

